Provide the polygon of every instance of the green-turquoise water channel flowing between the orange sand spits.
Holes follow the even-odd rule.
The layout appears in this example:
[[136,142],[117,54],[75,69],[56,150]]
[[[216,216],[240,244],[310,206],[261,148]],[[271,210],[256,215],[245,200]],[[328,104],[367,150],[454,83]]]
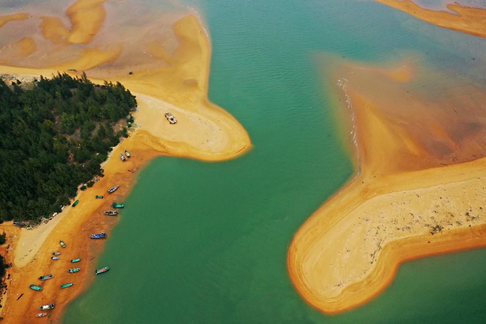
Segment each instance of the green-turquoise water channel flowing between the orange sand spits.
[[[151,5],[155,6],[156,2]],[[352,175],[324,92],[326,52],[366,62],[482,62],[475,37],[372,2],[192,2],[213,56],[209,97],[254,149],[224,163],[158,158],[138,178],[98,264],[108,274],[64,323],[476,323],[486,318],[486,250],[409,262],[377,299],[337,316],[309,307],[286,270],[293,233]],[[451,46],[453,44],[453,46]],[[483,53],[486,53],[483,52]],[[416,54],[412,54],[416,55]],[[322,73],[324,75],[322,75]],[[440,83],[441,80],[438,80]],[[258,119],[254,118],[258,116]],[[154,202],[165,201],[162,208]]]

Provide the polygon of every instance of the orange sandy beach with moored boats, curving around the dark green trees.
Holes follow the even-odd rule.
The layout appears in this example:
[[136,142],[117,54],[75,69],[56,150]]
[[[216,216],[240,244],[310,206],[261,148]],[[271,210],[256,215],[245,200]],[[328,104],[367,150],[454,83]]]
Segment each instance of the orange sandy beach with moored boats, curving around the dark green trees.
[[[93,19],[102,18],[104,9],[99,7],[102,1],[79,3],[80,6],[84,3],[94,8],[98,16],[93,16]],[[74,8],[76,10],[71,9],[67,15],[83,21],[84,16],[92,13],[89,8]],[[84,36],[94,33],[90,28],[95,27],[99,28],[96,24],[90,24],[89,28],[74,25],[71,32],[61,30],[58,34],[44,29],[43,34],[46,38],[67,37],[68,42],[84,43],[89,42]],[[14,266],[8,270],[11,276],[7,279],[8,301],[2,312],[4,322],[31,323],[38,312],[37,307],[46,303],[55,303],[56,308],[48,317],[38,321],[60,320],[64,307],[86,290],[94,279],[96,257],[104,242],[90,240],[89,234],[109,232],[117,222],[117,217],[106,216],[102,211],[108,210],[115,200],[123,201],[137,172],[154,157],[171,155],[220,161],[239,156],[251,148],[250,138],[238,121],[207,98],[211,47],[200,21],[196,16],[188,15],[179,19],[173,30],[178,46],[168,55],[171,58],[169,65],[138,70],[133,75],[129,75],[126,68],[123,74],[96,71],[103,76],[102,79],[91,77],[88,71],[93,82],[102,84],[104,79],[119,81],[137,97],[138,109],[134,116],[138,126],[111,153],[103,167],[104,177],[92,188],[78,194],[80,203],[76,208],[66,207],[47,225],[30,231],[15,228],[10,222],[0,225],[0,231],[5,230],[9,234],[9,243],[14,248],[7,254],[8,262],[14,262]],[[70,68],[81,73],[83,69],[112,62],[117,57],[116,54],[107,56],[107,52],[88,49],[81,58],[68,63],[39,69],[0,66],[0,72],[38,77]],[[178,119],[176,125],[169,125],[165,119],[164,114],[168,111]],[[129,150],[132,157],[122,163],[119,155],[125,150]],[[121,187],[108,195],[106,190],[117,184]],[[95,199],[97,194],[105,195],[105,199]],[[123,211],[119,217],[123,217]],[[59,246],[60,239],[66,243],[65,249]],[[52,251],[61,251],[61,260],[51,260]],[[70,264],[66,262],[72,258],[82,259],[79,264],[81,272],[67,272]],[[28,288],[30,284],[40,282],[39,276],[48,273],[54,274],[54,278],[43,282],[42,292]],[[74,286],[60,290],[59,285],[65,282],[74,282]]]

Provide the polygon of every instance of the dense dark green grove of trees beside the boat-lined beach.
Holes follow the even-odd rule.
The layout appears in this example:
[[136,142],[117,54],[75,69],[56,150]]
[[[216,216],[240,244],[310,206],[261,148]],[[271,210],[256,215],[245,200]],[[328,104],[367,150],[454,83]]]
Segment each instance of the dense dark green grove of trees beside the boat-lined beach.
[[80,184],[102,176],[135,107],[120,83],[95,86],[85,74],[41,77],[31,89],[0,79],[0,222],[60,212]]

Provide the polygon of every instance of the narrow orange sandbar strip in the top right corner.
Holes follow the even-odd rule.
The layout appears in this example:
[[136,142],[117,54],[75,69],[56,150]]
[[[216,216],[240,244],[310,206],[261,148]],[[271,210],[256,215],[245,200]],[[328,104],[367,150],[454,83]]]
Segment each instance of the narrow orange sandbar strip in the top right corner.
[[446,5],[446,11],[434,11],[419,7],[412,0],[376,0],[382,4],[406,12],[428,23],[467,34],[486,37],[486,9],[462,6],[458,3]]

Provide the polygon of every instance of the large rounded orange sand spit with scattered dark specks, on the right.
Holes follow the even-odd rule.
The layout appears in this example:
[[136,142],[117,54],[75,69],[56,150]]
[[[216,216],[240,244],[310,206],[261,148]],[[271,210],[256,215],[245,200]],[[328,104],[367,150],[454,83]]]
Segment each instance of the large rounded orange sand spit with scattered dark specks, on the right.
[[[463,113],[474,107],[456,106],[452,119],[457,125],[450,128],[433,107],[419,108],[425,99],[418,91],[416,108],[380,106],[394,106],[393,99],[410,102],[401,95],[415,89],[416,78],[422,77],[414,69],[340,67],[346,69],[349,74],[338,87],[346,103],[352,103],[360,172],[298,229],[287,259],[297,291],[325,313],[369,301],[390,284],[402,262],[486,246],[486,158],[477,158],[484,153],[482,133],[468,137],[477,142],[471,146],[476,157],[454,155],[461,147],[457,143],[464,141],[458,134],[467,133],[457,125],[467,125],[468,113]],[[380,98],[373,89],[381,89]],[[423,111],[422,124],[413,120],[415,109]],[[414,133],[417,125],[434,130],[435,123],[440,132]]]

